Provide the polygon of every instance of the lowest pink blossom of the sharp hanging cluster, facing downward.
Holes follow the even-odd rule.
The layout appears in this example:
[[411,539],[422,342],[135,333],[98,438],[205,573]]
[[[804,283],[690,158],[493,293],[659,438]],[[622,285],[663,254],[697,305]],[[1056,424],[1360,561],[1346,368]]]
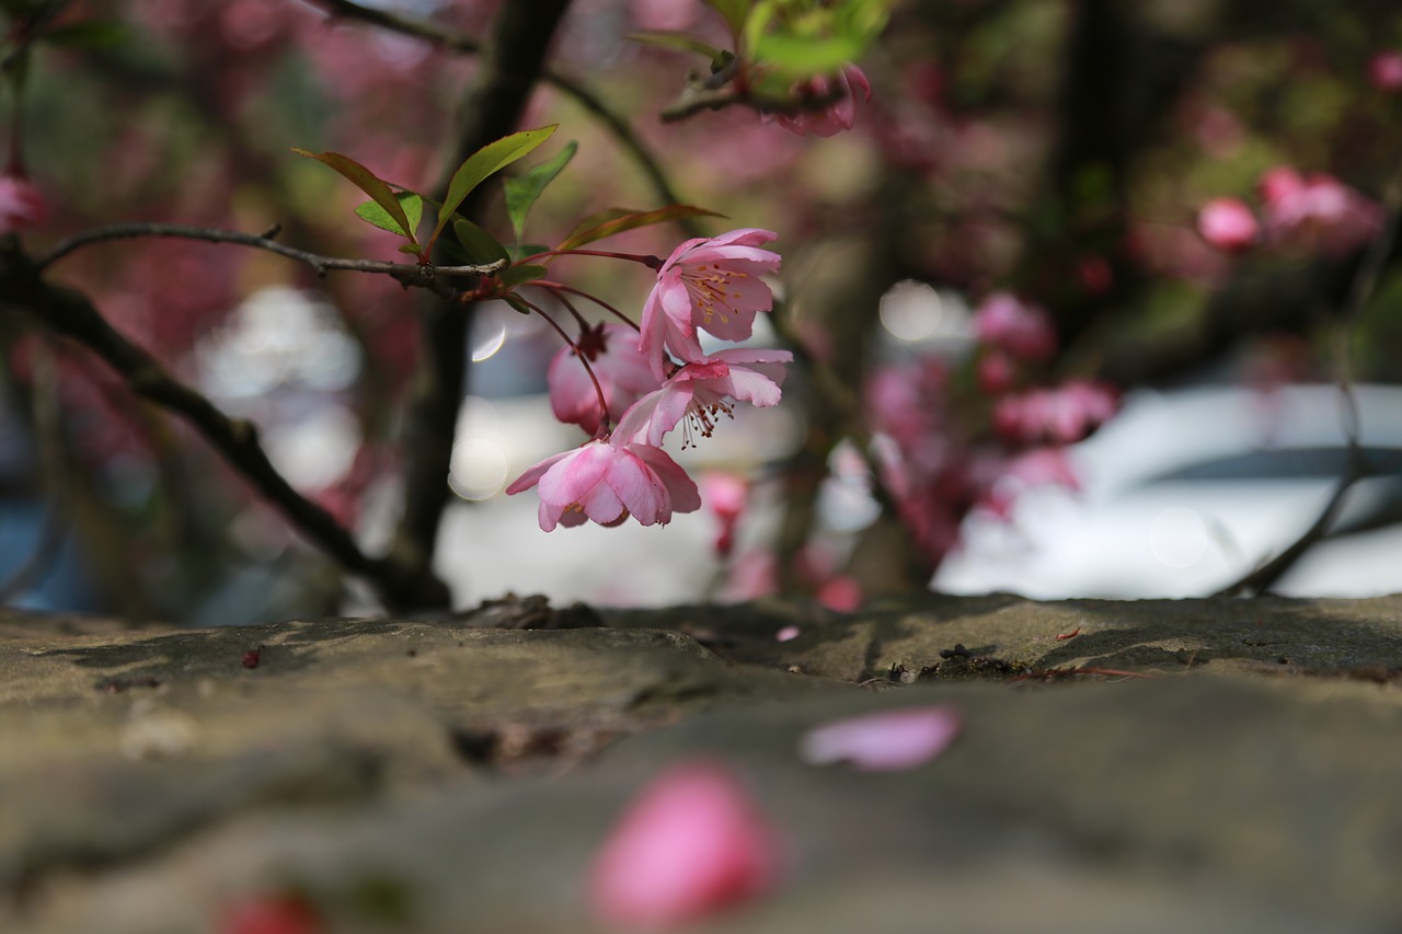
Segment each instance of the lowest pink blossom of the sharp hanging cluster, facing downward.
[[695,512],[701,494],[660,447],[592,440],[552,454],[516,478],[508,494],[537,487],[540,527],[615,526],[629,516],[641,524],[667,524],[674,512]]

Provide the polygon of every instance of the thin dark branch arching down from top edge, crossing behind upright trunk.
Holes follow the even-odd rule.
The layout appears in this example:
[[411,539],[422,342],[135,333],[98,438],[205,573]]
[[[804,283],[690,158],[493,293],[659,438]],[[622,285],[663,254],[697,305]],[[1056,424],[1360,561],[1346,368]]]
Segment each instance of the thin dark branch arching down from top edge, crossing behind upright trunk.
[[[317,1],[327,7],[332,15],[339,15],[346,20],[359,20],[402,35],[415,36],[442,49],[461,52],[465,55],[478,55],[482,50],[481,42],[477,39],[447,32],[428,22],[400,17],[393,13],[386,13],[384,10],[373,10],[370,7],[360,6],[359,3],[352,3],[350,0]],[[677,196],[672,181],[662,168],[662,164],[658,161],[656,156],[652,154],[652,150],[648,149],[648,144],[642,142],[637,132],[634,132],[632,125],[627,121],[627,118],[611,108],[608,102],[594,94],[593,90],[569,74],[545,66],[541,69],[540,77],[545,84],[550,84],[566,97],[573,98],[579,107],[599,121],[613,135],[613,137],[618,140],[620,146],[632,154],[638,167],[642,168],[642,172],[648,177],[648,181],[652,184],[652,188],[658,192],[658,196],[663,203],[681,203],[681,198]],[[677,224],[688,237],[705,236],[705,231],[697,223],[695,217],[680,217],[677,219]]]

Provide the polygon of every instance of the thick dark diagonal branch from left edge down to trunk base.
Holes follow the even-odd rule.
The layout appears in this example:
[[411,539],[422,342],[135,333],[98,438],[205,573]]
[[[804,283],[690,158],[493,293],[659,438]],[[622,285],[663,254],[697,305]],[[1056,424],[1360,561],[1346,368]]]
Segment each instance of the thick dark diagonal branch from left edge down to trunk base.
[[45,282],[39,268],[14,248],[0,252],[0,304],[29,311],[41,327],[101,358],[135,393],[189,422],[299,532],[348,572],[366,578],[388,606],[447,606],[447,586],[432,572],[366,555],[331,513],[293,489],[268,460],[252,422],[229,418],[175,380],[158,360],[112,328],[87,296]]

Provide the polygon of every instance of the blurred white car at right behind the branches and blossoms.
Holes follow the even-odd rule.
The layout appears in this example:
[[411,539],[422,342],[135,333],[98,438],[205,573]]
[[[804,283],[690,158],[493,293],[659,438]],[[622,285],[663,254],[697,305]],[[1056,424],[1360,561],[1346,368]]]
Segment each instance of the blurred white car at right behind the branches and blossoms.
[[[1402,388],[1356,390],[1374,475],[1349,492],[1330,540],[1273,589],[1297,596],[1402,590]],[[1080,491],[1023,494],[1004,522],[976,513],[932,586],[1030,597],[1213,593],[1308,529],[1347,466],[1339,390],[1140,391],[1071,449]]]

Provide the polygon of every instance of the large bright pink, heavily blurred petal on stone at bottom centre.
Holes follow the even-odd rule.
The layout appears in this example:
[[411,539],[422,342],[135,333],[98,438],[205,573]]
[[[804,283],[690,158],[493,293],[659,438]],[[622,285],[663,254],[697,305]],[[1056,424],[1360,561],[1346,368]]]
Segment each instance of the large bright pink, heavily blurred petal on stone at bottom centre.
[[771,889],[782,847],[729,769],[684,762],[632,802],[594,857],[589,895],[608,924],[674,927]]

